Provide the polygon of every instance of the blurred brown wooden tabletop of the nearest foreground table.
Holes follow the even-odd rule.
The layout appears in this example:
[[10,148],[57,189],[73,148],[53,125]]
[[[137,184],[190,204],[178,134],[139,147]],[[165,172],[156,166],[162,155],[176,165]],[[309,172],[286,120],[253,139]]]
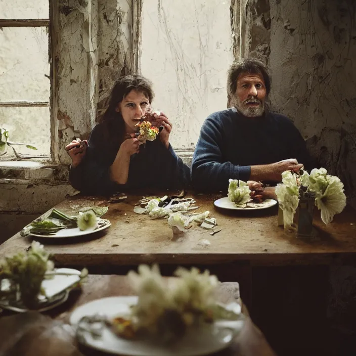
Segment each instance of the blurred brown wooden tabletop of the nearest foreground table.
[[[71,312],[77,306],[95,299],[120,295],[132,295],[125,276],[89,275],[83,283],[80,294],[71,292],[64,304],[47,314],[56,321],[66,324]],[[217,290],[217,298],[222,303],[235,301],[241,304],[238,283],[221,283]],[[216,353],[216,356],[274,356],[274,351],[249,318],[244,305],[242,311],[246,318],[241,333],[231,347]],[[48,319],[41,318],[42,316],[38,314],[26,314],[0,317],[0,354],[79,356],[80,353],[75,350],[76,342],[71,336],[64,334],[66,328],[62,327],[63,324],[51,324]],[[87,347],[79,347],[79,350],[85,356],[105,355]]]

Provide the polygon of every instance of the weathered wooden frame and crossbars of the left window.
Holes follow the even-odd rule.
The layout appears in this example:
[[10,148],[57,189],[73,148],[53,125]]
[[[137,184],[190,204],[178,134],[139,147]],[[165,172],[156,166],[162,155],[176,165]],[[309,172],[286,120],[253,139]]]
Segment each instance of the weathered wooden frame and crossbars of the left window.
[[[49,7],[51,9],[51,1],[49,2]],[[2,27],[46,27],[48,32],[48,44],[49,44],[49,64],[50,64],[50,86],[51,86],[51,95],[49,101],[27,101],[27,100],[11,100],[11,101],[0,101],[0,107],[50,107],[51,110],[51,101],[52,101],[52,84],[53,84],[53,70],[52,70],[52,40],[51,40],[51,26],[50,19],[0,19],[0,28]],[[51,113],[52,116],[52,113]],[[49,117],[50,119],[50,117]],[[51,120],[51,151],[52,151],[52,121]],[[28,160],[28,159],[40,159],[43,161],[48,161],[51,158],[51,155],[21,155],[16,153],[16,159],[10,158],[8,156],[1,157],[0,161],[11,160]]]

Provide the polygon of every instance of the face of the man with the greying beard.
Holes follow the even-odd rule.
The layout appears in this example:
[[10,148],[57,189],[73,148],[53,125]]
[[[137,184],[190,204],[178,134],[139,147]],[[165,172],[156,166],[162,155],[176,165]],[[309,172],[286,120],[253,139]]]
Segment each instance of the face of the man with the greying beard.
[[234,106],[247,117],[264,113],[266,87],[261,74],[241,73],[237,78]]

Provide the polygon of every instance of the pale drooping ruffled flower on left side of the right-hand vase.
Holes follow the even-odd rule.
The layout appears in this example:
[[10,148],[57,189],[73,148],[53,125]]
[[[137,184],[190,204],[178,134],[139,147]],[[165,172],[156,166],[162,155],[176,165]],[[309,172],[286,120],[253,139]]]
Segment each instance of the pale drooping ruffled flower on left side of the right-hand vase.
[[283,210],[284,228],[289,229],[299,204],[299,187],[296,175],[289,170],[282,173],[282,184],[277,184],[276,195],[280,208]]

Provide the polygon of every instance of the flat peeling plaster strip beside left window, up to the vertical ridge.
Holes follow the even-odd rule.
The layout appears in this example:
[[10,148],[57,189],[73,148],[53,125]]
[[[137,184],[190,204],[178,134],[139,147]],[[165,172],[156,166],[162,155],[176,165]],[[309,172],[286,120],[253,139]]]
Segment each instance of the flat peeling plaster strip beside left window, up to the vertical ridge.
[[[93,6],[92,6],[93,4]],[[87,138],[94,122],[97,48],[96,2],[54,2],[57,51],[54,117],[58,119],[58,162],[70,163],[65,145],[75,137]]]

